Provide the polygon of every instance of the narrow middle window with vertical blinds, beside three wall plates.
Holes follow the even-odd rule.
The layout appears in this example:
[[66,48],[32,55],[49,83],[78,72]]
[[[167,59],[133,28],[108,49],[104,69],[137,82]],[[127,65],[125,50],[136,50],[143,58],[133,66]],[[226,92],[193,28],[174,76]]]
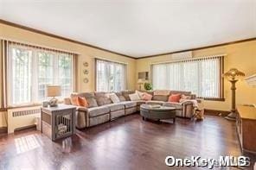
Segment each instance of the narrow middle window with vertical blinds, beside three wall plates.
[[121,91],[126,87],[126,65],[96,60],[96,91]]

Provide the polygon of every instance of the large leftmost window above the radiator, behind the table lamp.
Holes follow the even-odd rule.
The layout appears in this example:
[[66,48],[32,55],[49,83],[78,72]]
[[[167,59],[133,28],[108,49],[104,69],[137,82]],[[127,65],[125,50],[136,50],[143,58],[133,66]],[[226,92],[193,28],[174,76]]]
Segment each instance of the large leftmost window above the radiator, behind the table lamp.
[[32,104],[47,99],[47,85],[61,85],[66,97],[74,87],[74,54],[9,44],[9,104]]

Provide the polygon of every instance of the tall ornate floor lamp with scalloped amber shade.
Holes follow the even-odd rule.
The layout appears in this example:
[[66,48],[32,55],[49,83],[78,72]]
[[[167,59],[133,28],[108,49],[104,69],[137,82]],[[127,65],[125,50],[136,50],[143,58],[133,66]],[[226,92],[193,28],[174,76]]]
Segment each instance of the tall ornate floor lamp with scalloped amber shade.
[[231,95],[232,95],[232,104],[231,104],[231,112],[225,117],[228,120],[235,120],[235,83],[242,77],[245,76],[244,72],[240,72],[236,68],[231,68],[228,72],[224,73],[224,77],[231,83]]

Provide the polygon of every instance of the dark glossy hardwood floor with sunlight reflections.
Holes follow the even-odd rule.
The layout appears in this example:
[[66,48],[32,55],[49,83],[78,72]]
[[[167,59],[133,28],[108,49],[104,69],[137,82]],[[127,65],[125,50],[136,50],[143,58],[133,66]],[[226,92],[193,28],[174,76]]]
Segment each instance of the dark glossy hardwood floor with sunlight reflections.
[[[35,129],[3,135],[0,169],[199,169],[167,167],[164,160],[168,155],[241,155],[235,124],[220,116],[206,116],[202,122],[181,118],[171,122],[145,122],[135,114],[77,130],[76,135],[57,142]],[[251,158],[254,162],[255,157]]]

